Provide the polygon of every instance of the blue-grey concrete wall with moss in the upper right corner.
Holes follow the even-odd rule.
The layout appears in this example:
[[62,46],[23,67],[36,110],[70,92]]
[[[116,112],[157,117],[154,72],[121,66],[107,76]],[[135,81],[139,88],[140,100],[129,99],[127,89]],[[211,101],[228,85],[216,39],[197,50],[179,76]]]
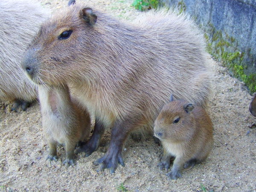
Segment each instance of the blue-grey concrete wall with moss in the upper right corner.
[[219,60],[240,52],[245,74],[256,73],[256,0],[162,0],[196,17]]

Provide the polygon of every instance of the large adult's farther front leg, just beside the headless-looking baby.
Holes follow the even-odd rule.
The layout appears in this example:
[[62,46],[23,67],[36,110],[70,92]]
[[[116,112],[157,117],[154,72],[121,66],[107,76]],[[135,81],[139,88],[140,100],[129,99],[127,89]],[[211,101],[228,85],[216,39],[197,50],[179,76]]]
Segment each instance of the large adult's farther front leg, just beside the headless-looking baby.
[[85,152],[85,156],[87,157],[90,154],[92,154],[94,151],[96,151],[97,148],[99,147],[99,142],[104,131],[105,131],[104,125],[102,125],[102,123],[96,120],[93,134],[90,137],[90,140],[86,144],[78,147],[75,151],[75,154]]

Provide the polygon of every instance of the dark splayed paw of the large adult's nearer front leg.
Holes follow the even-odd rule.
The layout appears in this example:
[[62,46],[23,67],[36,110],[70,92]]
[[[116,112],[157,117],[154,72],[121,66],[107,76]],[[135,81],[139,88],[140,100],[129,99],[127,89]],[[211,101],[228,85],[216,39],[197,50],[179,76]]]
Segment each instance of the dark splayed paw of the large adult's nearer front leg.
[[115,156],[105,155],[104,157],[101,157],[93,162],[94,165],[99,165],[97,172],[102,172],[107,168],[111,174],[115,172],[118,163],[120,163],[123,167],[125,166],[122,159],[122,154],[120,153]]

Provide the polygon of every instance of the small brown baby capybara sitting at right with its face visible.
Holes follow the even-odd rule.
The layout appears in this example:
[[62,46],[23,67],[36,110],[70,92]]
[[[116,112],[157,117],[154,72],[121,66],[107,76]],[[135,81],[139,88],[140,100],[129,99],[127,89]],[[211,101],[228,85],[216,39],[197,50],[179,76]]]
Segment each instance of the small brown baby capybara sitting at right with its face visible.
[[175,157],[172,179],[181,177],[180,169],[194,166],[204,160],[212,148],[212,121],[204,108],[184,100],[166,104],[155,121],[154,135],[163,145],[160,169],[168,169],[170,158]]

